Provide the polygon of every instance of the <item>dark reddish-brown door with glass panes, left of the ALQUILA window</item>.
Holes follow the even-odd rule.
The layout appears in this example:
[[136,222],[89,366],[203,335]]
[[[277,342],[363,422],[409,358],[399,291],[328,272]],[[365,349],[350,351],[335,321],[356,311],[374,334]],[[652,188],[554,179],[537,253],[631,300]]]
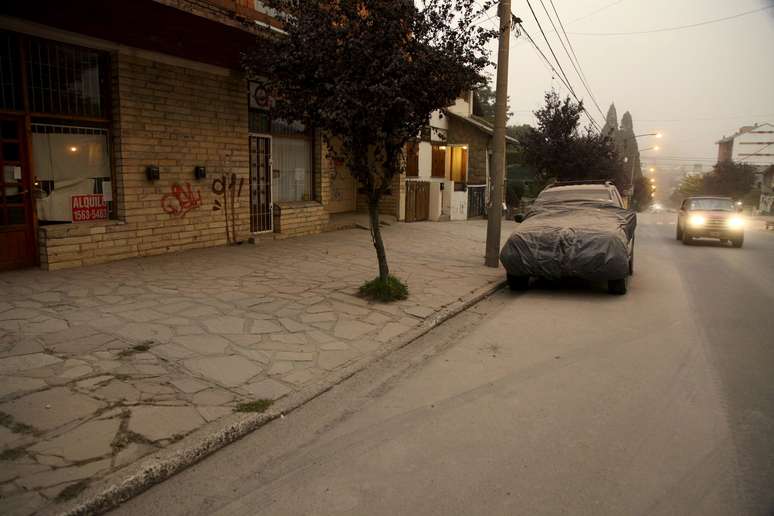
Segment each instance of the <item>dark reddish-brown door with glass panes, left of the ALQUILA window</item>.
[[35,264],[32,181],[24,121],[0,117],[0,270]]

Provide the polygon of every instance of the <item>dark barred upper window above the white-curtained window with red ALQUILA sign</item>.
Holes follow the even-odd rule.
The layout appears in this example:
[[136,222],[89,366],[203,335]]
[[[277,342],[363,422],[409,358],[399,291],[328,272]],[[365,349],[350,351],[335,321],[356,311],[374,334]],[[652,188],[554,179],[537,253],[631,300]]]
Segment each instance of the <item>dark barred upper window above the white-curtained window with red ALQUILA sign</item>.
[[30,38],[26,64],[33,113],[107,116],[102,53]]

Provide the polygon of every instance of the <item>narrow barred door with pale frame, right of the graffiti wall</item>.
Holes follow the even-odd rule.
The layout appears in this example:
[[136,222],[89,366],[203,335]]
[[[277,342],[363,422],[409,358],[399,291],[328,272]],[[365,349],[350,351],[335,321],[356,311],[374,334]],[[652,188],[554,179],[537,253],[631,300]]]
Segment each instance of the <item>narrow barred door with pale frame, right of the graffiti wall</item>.
[[271,137],[250,136],[250,231],[274,229],[271,198]]

